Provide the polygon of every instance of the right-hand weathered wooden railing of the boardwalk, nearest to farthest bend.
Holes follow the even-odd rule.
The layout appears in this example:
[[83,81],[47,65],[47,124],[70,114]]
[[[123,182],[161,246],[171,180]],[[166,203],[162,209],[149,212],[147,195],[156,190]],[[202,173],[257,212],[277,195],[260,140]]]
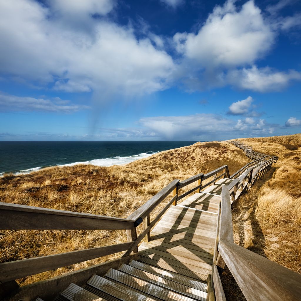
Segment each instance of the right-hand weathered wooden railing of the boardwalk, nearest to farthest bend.
[[[212,276],[209,284],[211,288],[208,290],[208,292],[214,291],[216,300],[226,300],[217,268],[223,269],[225,265],[248,301],[301,300],[300,274],[234,244],[231,200],[237,199],[241,193],[254,184],[256,179],[261,178],[271,168],[272,163],[277,161],[276,158],[278,159],[278,157],[266,155],[264,161],[257,159],[255,166],[248,163],[241,169],[242,172],[239,171],[241,175],[238,178],[230,185],[222,187]],[[254,173],[255,170],[257,171]],[[232,175],[232,178],[235,178],[237,174],[238,172]],[[208,296],[208,300],[214,300],[212,294]]]

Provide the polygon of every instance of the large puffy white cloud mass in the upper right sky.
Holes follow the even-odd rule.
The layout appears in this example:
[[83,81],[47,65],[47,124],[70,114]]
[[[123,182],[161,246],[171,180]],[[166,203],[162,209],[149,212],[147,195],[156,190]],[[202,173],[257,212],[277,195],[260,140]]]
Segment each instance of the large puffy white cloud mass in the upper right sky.
[[173,36],[182,56],[178,79],[190,92],[226,85],[258,92],[284,89],[301,79],[299,72],[258,68],[255,62],[268,54],[280,30],[289,30],[300,20],[298,14],[267,17],[253,0],[241,8],[232,0],[217,5],[197,33]]

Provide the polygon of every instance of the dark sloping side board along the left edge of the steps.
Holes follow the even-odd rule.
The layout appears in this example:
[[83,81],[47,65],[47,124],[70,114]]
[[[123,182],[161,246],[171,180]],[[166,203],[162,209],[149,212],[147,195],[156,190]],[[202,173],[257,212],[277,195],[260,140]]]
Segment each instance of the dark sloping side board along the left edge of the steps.
[[54,278],[39,281],[20,288],[20,292],[14,292],[9,301],[31,301],[39,296],[44,301],[55,299],[70,283],[82,286],[94,274],[104,275],[110,268],[119,268],[123,263],[129,263],[132,259],[138,259],[138,253],[123,258],[113,259],[88,268],[66,273]]

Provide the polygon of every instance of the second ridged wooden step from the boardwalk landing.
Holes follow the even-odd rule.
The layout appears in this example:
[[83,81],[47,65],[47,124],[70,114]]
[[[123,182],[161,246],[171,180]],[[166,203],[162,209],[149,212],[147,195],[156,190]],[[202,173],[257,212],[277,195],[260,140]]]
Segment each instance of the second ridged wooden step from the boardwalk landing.
[[149,272],[142,271],[138,268],[134,268],[130,265],[123,264],[119,268],[119,271],[127,273],[129,275],[135,276],[137,278],[143,279],[145,281],[151,282],[153,284],[164,287],[168,290],[172,290],[174,292],[180,293],[182,295],[191,297],[197,300],[206,300],[207,293],[206,290],[197,290],[192,287],[188,287],[184,284],[177,283],[175,281],[160,277],[158,275],[154,275]]

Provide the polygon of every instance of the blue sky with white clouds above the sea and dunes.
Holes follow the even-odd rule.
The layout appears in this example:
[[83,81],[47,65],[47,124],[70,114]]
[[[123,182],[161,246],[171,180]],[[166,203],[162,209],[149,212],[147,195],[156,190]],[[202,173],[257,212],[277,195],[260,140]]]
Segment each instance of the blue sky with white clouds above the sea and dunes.
[[0,141],[301,132],[301,1],[0,0]]

